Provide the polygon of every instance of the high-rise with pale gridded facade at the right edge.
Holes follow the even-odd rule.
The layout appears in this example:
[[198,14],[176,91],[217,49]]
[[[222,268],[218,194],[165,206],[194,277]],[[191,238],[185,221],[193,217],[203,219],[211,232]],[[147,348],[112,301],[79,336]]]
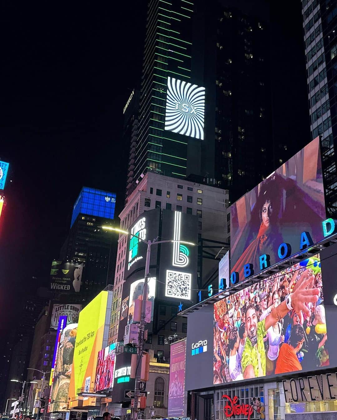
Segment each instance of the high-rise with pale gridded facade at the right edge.
[[302,0],[302,14],[311,136],[321,136],[326,208],[336,215],[337,1]]

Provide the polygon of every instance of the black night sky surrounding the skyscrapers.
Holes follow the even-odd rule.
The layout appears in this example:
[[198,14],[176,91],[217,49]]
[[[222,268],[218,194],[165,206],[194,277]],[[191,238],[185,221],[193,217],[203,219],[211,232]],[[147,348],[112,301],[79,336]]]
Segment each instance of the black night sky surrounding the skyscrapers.
[[[26,294],[47,285],[82,186],[116,192],[121,209],[123,108],[140,83],[146,3],[2,5],[0,160],[10,162],[11,176],[0,221],[0,333],[13,328]],[[271,11],[270,54],[273,101],[286,119],[276,131],[296,138],[309,127],[298,126],[308,110],[294,3]],[[303,106],[297,118],[294,89],[295,109]]]

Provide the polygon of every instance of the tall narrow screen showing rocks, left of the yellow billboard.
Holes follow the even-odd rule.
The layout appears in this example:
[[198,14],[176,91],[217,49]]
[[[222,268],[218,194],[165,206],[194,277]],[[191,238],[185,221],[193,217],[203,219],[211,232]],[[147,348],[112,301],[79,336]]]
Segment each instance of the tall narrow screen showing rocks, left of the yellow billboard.
[[[78,324],[68,324],[61,332],[57,343],[56,358],[53,369],[53,383],[50,389],[48,412],[61,411],[64,403],[68,403],[68,392],[71,368]],[[54,401],[52,403],[52,401]]]

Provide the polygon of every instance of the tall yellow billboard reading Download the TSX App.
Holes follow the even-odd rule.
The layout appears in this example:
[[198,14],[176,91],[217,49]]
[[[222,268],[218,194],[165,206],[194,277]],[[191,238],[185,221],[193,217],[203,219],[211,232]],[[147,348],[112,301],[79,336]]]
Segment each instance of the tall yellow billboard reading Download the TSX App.
[[[69,387],[69,405],[76,407],[79,389],[90,392],[94,388],[97,354],[103,348],[105,323],[107,318],[108,291],[101,291],[79,313],[79,324],[74,350],[73,367]],[[107,342],[104,343],[104,346]]]

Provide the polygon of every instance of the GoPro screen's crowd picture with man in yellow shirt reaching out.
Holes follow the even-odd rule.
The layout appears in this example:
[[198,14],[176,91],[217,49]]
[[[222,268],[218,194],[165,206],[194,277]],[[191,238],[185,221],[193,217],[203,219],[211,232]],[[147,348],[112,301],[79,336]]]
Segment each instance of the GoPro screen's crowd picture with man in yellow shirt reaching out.
[[317,254],[216,302],[214,384],[329,366],[322,281]]

